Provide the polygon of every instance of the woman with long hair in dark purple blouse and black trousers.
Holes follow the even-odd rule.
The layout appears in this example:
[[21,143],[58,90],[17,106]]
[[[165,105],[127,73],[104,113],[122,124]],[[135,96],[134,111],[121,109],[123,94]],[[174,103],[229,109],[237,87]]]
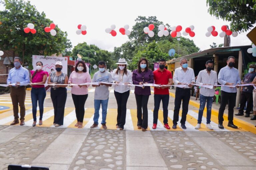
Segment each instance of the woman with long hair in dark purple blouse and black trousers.
[[[132,82],[135,85],[154,83],[153,71],[148,68],[148,60],[146,58],[139,60],[138,69],[135,69],[132,73]],[[134,94],[137,104],[137,127],[142,131],[146,131],[148,128],[148,99],[151,95],[150,86],[135,86]]]

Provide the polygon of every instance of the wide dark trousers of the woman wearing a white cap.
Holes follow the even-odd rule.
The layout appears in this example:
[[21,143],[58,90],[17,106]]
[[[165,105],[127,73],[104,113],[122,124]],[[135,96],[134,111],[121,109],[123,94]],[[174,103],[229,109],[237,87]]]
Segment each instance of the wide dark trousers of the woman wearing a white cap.
[[65,87],[51,88],[51,99],[54,108],[53,123],[63,125],[67,89]]

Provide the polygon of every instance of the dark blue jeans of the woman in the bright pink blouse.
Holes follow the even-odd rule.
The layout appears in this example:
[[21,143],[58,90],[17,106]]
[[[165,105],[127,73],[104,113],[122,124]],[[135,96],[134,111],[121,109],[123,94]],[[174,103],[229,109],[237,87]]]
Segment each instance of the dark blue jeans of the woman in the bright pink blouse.
[[45,91],[44,87],[42,87],[42,88],[32,87],[31,101],[32,101],[32,113],[33,113],[34,121],[36,121],[37,101],[38,101],[39,113],[40,113],[39,120],[42,120],[42,118],[43,118],[45,96],[46,96],[46,91]]

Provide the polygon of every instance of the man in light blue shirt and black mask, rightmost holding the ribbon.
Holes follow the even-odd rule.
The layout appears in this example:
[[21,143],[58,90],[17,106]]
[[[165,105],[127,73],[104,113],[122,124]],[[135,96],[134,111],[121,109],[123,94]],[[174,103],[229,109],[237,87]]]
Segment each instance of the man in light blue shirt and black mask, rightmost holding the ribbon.
[[[227,60],[227,66],[220,69],[218,75],[218,82],[221,85],[234,86],[239,85],[241,83],[241,79],[238,73],[238,70],[234,68],[235,57],[229,56]],[[236,86],[239,88],[239,86]],[[228,127],[237,129],[238,127],[234,125],[234,107],[236,103],[236,93],[237,89],[234,87],[221,86],[221,102],[219,108],[219,125],[220,129],[224,129],[223,127],[223,114],[228,103]]]

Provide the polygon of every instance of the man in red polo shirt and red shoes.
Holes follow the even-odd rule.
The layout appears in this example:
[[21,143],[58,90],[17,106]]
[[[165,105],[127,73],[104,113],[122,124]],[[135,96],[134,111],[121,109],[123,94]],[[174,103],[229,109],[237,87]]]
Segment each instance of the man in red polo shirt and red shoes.
[[[165,69],[165,59],[159,60],[159,68],[153,72],[155,84],[172,85],[172,73]],[[170,129],[168,125],[168,105],[169,105],[169,87],[154,88],[154,112],[153,112],[153,129],[156,129],[158,120],[158,110],[160,103],[163,103],[164,127]]]

